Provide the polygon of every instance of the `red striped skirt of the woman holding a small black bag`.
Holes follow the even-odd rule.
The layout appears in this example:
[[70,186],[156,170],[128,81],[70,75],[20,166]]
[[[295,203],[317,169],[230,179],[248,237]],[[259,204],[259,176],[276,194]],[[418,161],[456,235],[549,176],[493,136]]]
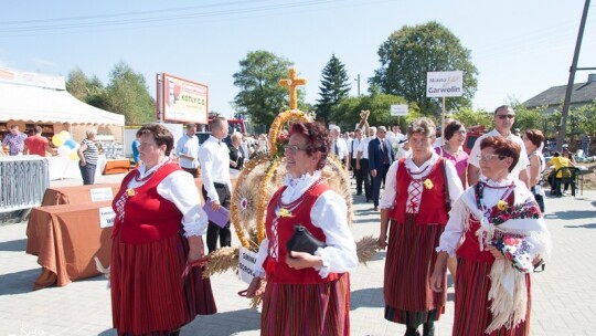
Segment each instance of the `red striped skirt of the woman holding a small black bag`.
[[267,283],[260,335],[350,335],[350,275],[320,284]]

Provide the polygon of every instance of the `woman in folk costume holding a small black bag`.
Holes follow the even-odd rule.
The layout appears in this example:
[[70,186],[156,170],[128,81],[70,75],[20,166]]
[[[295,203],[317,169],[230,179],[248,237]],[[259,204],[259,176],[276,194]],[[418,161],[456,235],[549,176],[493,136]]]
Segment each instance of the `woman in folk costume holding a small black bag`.
[[[350,279],[358,264],[347,204],[321,179],[329,134],[318,123],[295,123],[285,148],[288,176],[267,208],[266,233],[247,296],[263,276],[262,335],[349,335]],[[294,225],[302,224],[326,248],[315,254],[287,251]]]

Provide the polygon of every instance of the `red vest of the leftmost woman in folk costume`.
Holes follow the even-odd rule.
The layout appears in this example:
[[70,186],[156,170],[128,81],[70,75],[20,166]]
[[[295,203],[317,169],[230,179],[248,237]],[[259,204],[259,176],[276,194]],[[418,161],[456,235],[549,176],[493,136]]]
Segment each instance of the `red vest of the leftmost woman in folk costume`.
[[121,242],[140,244],[178,233],[182,228],[182,213],[174,203],[157,192],[157,186],[177,170],[180,170],[177,164],[164,164],[145,185],[135,188],[135,196],[129,196],[125,204],[124,222],[120,222],[116,202],[127,192],[128,182],[137,175],[137,169],[124,178],[120,190],[111,202],[116,212],[113,237],[120,234]]

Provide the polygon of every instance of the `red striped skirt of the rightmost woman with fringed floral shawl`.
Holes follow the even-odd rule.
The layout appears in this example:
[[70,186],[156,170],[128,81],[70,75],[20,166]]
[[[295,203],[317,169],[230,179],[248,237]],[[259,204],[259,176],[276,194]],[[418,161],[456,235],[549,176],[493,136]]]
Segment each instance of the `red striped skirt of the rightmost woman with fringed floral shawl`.
[[490,267],[491,263],[481,263],[462,258],[458,259],[455,295],[455,318],[453,335],[465,336],[525,336],[530,335],[530,308],[532,303],[530,274],[525,275],[528,287],[528,313],[525,321],[513,328],[502,327],[486,334],[492,322],[490,314]]

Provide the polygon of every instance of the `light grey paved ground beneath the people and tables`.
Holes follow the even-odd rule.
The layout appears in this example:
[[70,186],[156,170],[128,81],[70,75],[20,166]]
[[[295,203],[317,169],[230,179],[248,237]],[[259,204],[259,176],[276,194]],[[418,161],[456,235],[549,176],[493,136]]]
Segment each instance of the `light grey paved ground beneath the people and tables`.
[[[103,177],[98,182],[121,176]],[[53,186],[81,183],[77,180]],[[371,203],[355,198],[354,238],[377,235],[379,213]],[[547,222],[554,239],[546,272],[533,275],[532,335],[596,334],[596,191],[576,198],[550,198]],[[65,287],[32,292],[40,273],[36,258],[24,253],[26,223],[0,227],[0,336],[1,335],[116,335],[107,281],[94,277]],[[237,241],[234,244],[238,244]],[[384,253],[351,274],[352,335],[403,335],[404,328],[383,319]],[[246,287],[227,272],[212,279],[220,313],[196,317],[182,335],[258,335],[259,313],[237,296]],[[453,288],[447,314],[437,324],[437,335],[450,335]]]

